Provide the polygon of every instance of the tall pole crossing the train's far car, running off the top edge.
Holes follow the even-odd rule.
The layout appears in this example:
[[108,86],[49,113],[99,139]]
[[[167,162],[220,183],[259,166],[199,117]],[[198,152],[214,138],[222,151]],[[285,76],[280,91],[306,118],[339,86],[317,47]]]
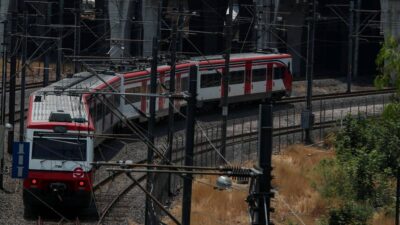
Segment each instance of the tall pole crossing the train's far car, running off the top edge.
[[[233,12],[233,0],[229,0],[228,5],[228,15],[226,16],[226,27],[225,27],[225,67],[223,71],[222,78],[222,98],[221,98],[221,106],[222,106],[222,125],[221,125],[221,155],[222,157],[226,156],[226,129],[228,122],[228,97],[229,97],[229,80],[230,80],[230,72],[229,72],[229,63],[231,59],[231,51],[232,51],[232,12]],[[223,163],[224,159],[220,159],[220,162]]]

